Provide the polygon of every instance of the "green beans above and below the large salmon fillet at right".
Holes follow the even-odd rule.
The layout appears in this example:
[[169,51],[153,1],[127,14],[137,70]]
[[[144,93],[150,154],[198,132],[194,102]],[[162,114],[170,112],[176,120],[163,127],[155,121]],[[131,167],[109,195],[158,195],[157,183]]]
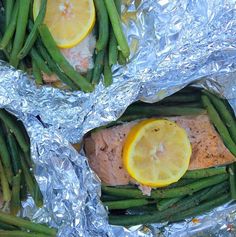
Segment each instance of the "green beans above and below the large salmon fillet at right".
[[[198,114],[208,114],[225,146],[236,156],[233,111],[226,100],[200,89],[187,87],[153,104],[135,102],[106,127],[147,117]],[[135,185],[102,185],[101,200],[108,208],[109,222],[114,225],[180,221],[236,200],[236,163],[187,171],[178,182],[154,189],[150,196],[144,196]]]

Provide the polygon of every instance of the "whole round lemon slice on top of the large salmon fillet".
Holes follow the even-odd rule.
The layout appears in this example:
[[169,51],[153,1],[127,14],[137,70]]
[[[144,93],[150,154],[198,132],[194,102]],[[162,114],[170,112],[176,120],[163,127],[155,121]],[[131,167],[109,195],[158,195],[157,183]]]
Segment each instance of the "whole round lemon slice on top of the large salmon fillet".
[[129,132],[123,162],[129,175],[151,187],[177,182],[187,171],[192,149],[186,131],[164,119],[147,119]]

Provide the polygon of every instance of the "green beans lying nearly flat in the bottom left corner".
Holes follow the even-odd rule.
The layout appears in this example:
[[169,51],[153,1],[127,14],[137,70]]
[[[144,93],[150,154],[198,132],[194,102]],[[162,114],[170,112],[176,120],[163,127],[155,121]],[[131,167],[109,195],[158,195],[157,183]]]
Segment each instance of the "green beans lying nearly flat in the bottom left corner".
[[0,237],[54,237],[57,230],[0,211]]

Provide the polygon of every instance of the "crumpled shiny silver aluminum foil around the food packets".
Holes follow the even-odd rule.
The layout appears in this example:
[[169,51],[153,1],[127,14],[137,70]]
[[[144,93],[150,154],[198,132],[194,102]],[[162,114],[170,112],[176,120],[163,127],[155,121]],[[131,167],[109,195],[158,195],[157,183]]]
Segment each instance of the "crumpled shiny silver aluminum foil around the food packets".
[[40,210],[29,198],[22,215],[59,227],[58,236],[234,236],[232,203],[199,223],[108,225],[99,179],[69,142],[116,120],[136,100],[155,102],[188,84],[227,98],[236,113],[235,0],[127,0],[122,8],[131,60],[114,68],[109,88],[100,84],[91,94],[38,88],[0,62],[0,106],[27,128],[45,198]]

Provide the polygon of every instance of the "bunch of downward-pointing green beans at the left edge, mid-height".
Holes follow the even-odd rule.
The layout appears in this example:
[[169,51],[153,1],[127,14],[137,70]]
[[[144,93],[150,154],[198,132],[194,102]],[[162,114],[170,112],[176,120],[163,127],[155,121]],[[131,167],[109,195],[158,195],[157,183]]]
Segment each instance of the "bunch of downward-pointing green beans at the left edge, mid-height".
[[[43,196],[32,173],[30,142],[23,124],[7,111],[0,110],[0,188],[4,205],[16,215],[28,193],[38,207]],[[1,236],[1,235],[0,235]]]

